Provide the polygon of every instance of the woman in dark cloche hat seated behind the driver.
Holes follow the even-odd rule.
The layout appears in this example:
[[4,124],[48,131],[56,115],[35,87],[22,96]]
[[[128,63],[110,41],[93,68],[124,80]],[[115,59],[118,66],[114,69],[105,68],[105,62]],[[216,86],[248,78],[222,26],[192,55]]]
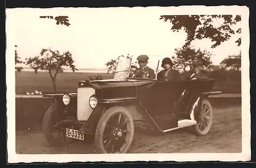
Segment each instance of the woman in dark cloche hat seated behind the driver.
[[163,71],[157,74],[157,80],[184,80],[179,71],[172,68],[173,62],[170,58],[166,57],[162,60]]

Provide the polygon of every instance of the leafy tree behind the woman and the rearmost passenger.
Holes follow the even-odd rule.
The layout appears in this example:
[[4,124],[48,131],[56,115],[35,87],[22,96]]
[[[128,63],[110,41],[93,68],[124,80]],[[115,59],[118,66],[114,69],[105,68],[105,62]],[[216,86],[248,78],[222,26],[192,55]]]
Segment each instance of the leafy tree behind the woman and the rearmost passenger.
[[211,53],[206,50],[202,51],[200,48],[198,50],[190,46],[176,48],[174,53],[176,55],[176,57],[173,57],[174,67],[176,69],[183,69],[184,72],[186,71],[186,67],[189,67],[190,70],[192,69],[191,63],[195,60],[202,61],[204,67],[207,68],[212,64],[210,60]]

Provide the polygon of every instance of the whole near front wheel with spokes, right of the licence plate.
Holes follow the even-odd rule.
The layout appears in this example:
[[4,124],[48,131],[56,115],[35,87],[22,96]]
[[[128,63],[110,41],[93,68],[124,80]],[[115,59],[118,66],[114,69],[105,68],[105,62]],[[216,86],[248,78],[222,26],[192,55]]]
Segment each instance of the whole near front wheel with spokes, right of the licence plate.
[[126,153],[133,141],[134,122],[124,107],[112,107],[99,119],[95,146],[99,153]]

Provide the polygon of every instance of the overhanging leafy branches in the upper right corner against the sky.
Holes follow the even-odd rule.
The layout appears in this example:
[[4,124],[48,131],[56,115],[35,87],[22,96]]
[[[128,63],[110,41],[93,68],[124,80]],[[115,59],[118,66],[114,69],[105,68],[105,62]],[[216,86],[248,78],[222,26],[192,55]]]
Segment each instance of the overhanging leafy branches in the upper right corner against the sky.
[[[241,34],[241,28],[233,30],[231,26],[241,23],[241,15],[161,15],[160,19],[167,20],[173,24],[171,30],[179,32],[184,30],[187,33],[184,47],[189,46],[195,39],[209,38],[215,42],[211,48],[216,48],[231,35]],[[217,21],[217,27],[214,26]],[[236,40],[238,46],[241,45],[241,37]]]

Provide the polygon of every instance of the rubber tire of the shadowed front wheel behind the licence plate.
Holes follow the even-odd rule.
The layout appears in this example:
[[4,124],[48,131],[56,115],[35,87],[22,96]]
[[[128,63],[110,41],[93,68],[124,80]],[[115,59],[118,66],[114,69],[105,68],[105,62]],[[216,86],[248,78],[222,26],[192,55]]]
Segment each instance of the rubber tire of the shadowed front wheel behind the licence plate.
[[42,132],[45,135],[46,140],[52,146],[64,146],[71,144],[74,140],[71,138],[67,138],[66,141],[58,141],[51,135],[50,121],[51,117],[56,115],[56,103],[53,103],[45,113],[44,120],[42,121]]

